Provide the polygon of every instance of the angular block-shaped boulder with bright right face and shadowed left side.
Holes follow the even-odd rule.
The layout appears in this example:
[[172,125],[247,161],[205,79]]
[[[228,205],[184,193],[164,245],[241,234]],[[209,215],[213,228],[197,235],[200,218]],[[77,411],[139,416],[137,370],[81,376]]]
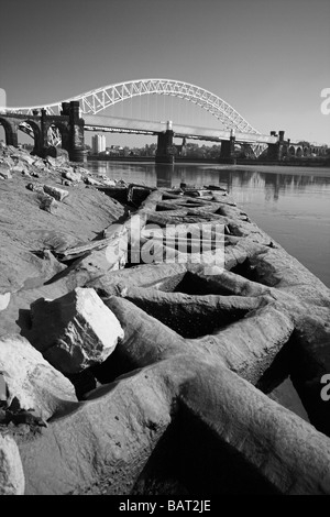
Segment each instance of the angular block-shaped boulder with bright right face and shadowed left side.
[[55,300],[31,306],[34,346],[66,374],[102,363],[116,349],[123,330],[94,289],[76,288]]

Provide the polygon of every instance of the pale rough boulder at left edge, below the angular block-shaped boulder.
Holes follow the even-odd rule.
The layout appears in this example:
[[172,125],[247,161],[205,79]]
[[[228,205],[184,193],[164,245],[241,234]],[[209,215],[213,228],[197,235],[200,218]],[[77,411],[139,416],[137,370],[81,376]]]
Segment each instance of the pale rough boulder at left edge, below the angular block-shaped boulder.
[[0,372],[7,405],[14,402],[20,409],[33,409],[43,420],[77,402],[73,384],[21,336],[0,338]]

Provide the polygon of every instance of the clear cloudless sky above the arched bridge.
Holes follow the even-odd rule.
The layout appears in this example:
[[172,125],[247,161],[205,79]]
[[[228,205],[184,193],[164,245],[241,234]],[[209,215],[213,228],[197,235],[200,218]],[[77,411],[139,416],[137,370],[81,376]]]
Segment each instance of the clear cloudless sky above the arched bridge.
[[10,0],[0,15],[8,106],[163,77],[212,91],[263,133],[330,145],[330,0]]

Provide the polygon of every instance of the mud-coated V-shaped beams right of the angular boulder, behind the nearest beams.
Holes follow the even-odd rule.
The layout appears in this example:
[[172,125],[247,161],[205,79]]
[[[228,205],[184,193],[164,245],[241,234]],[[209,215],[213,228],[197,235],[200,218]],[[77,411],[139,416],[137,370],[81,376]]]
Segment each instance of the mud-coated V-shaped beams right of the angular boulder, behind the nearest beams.
[[[110,297],[105,301],[124,329],[117,356],[131,367],[146,366],[189,350],[193,354],[218,358],[230,370],[256,384],[294,330],[292,318],[270,304],[223,329],[211,332],[210,328],[209,336],[183,339],[125,299]],[[190,321],[186,319],[182,323],[174,319],[174,326],[177,324],[194,327],[196,322],[193,316]],[[106,367],[102,365],[102,376]]]

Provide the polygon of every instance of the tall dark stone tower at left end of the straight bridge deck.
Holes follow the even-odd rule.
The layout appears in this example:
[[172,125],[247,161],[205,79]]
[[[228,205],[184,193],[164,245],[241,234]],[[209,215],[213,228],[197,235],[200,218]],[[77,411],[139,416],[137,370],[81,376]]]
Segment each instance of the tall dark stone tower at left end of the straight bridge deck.
[[69,106],[69,141],[68,153],[70,162],[86,162],[87,151],[85,148],[84,119],[79,114],[79,101],[72,100]]

